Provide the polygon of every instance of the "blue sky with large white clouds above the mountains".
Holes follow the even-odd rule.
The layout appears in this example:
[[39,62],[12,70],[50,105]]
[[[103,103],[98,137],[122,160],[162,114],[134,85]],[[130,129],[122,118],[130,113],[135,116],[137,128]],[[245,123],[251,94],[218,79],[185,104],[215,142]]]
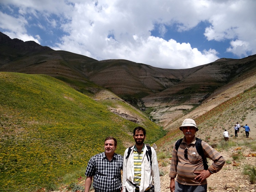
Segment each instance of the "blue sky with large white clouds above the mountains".
[[1,0],[0,31],[97,60],[191,68],[256,54],[256,0]]

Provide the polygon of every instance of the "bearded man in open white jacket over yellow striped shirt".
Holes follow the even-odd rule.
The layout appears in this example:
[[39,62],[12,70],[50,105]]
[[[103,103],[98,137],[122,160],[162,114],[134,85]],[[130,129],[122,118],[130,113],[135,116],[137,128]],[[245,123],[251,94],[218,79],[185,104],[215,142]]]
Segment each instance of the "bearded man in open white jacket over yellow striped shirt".
[[133,130],[135,145],[124,154],[123,192],[160,192],[160,177],[155,150],[144,144],[146,131]]

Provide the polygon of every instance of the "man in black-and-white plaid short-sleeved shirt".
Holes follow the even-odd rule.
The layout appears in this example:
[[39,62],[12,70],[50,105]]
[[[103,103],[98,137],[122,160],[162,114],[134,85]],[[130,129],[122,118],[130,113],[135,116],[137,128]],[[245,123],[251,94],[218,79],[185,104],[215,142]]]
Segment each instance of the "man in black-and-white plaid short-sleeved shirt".
[[91,157],[86,168],[85,192],[89,192],[92,177],[95,192],[121,192],[121,169],[123,156],[115,153],[117,141],[107,137],[104,142],[105,152]]

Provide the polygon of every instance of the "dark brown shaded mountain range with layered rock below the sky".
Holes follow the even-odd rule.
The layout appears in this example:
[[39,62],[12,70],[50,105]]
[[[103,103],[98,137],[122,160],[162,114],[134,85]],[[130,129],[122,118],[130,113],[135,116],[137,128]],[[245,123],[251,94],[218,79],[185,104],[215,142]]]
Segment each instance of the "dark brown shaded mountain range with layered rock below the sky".
[[90,97],[101,87],[107,88],[133,106],[148,109],[149,116],[164,127],[221,87],[250,78],[256,68],[256,55],[223,58],[190,69],[161,69],[127,60],[97,61],[30,43],[1,33],[0,71],[50,75]]

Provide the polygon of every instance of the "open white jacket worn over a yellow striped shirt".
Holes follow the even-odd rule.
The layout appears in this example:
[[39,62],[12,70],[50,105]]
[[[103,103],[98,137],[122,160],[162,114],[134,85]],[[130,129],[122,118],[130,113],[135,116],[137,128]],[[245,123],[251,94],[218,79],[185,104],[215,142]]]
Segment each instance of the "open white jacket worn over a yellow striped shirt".
[[[134,180],[134,164],[133,164],[133,148],[131,148],[130,156],[126,159],[128,154],[128,148],[125,150],[124,163],[123,163],[123,191],[126,189],[128,192],[134,192],[135,186],[131,184]],[[146,151],[148,149],[144,145],[143,157],[141,163],[141,183],[139,187],[140,192],[144,192],[148,187],[154,185],[155,192],[160,192],[160,177],[158,162],[155,150],[151,147],[152,155],[152,166],[150,166],[150,161],[146,156]],[[130,182],[131,181],[131,182]],[[153,182],[152,182],[153,181]]]

